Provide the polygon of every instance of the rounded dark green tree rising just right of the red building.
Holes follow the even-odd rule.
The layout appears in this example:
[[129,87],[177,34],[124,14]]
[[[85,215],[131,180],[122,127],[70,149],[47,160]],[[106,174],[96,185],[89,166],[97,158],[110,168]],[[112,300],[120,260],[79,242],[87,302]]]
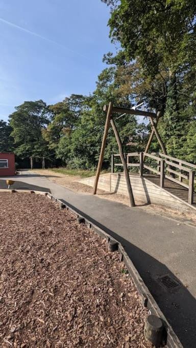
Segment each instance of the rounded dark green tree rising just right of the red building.
[[42,157],[48,154],[42,129],[49,123],[51,112],[42,100],[24,101],[9,116],[15,153],[21,158]]

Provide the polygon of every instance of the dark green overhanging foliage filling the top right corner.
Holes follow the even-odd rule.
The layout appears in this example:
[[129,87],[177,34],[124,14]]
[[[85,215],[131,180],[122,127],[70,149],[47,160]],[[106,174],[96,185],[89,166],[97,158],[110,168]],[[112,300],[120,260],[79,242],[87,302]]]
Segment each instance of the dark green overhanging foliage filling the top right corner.
[[194,0],[116,1],[110,37],[121,43],[128,60],[139,59],[148,75],[155,76],[162,66],[175,71],[190,62],[190,49],[195,50],[195,12]]

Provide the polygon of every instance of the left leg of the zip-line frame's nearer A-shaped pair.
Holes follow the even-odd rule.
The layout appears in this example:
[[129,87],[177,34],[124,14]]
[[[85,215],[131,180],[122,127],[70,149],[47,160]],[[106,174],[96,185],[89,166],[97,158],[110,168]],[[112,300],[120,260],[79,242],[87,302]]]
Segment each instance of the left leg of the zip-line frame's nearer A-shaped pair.
[[102,140],[102,147],[101,147],[101,151],[100,151],[100,158],[99,158],[99,162],[98,162],[97,169],[96,169],[96,176],[95,176],[94,187],[93,187],[93,195],[96,195],[97,185],[98,185],[98,181],[99,181],[99,177],[100,177],[100,172],[102,169],[102,163],[103,163],[103,159],[104,159],[104,151],[105,151],[105,147],[106,147],[106,139],[107,139],[107,135],[108,135],[108,129],[110,126],[111,113],[112,113],[112,103],[110,102],[109,106],[108,106],[107,116],[106,116],[106,123],[105,123],[105,129],[104,129],[104,136],[103,136],[103,140]]

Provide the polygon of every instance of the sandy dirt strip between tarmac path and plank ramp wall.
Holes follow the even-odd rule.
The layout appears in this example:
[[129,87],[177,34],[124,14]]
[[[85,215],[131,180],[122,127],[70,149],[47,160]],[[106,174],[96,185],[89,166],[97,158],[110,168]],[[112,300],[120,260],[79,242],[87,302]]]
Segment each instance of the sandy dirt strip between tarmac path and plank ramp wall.
[[[59,185],[64,186],[65,188],[68,188],[69,190],[72,190],[74,192],[79,193],[86,193],[86,194],[92,194],[93,189],[91,186],[85,185],[81,182],[78,182],[78,180],[81,179],[80,176],[71,176],[71,175],[64,175],[60,173],[55,173],[50,170],[34,170],[34,172],[37,172],[40,175],[46,175],[47,178],[53,182],[56,182]],[[108,193],[102,190],[97,190],[97,195],[100,198],[108,199],[108,200],[114,200],[117,202],[120,202],[125,205],[130,205],[129,198],[124,195],[119,195],[116,193]],[[160,214],[162,216],[170,217],[179,221],[189,221],[192,225],[196,226],[196,213],[195,212],[182,212],[180,210],[175,210],[171,208],[167,208],[164,206],[160,206],[157,204],[145,204],[139,199],[135,200],[135,203],[137,206],[139,206],[142,209],[145,209],[149,213],[152,214]]]

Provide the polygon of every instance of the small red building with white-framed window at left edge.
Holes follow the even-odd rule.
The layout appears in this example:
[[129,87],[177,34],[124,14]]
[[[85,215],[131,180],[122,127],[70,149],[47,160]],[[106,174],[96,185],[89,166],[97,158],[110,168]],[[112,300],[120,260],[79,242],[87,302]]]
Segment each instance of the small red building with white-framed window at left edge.
[[0,176],[15,175],[15,156],[13,152],[0,152]]

